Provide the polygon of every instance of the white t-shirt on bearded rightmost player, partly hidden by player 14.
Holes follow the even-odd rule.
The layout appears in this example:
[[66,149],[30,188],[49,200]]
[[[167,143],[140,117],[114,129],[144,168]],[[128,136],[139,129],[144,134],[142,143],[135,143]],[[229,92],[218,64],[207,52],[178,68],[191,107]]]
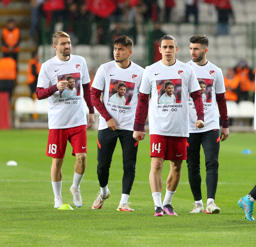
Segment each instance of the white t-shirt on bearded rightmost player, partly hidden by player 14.
[[[216,94],[225,93],[225,84],[223,74],[220,68],[212,64],[210,61],[206,65],[200,66],[190,60],[188,62],[196,73],[198,80],[202,79],[206,83],[204,94],[208,95],[208,100],[204,102],[204,127],[199,129],[195,128],[194,120],[197,120],[196,110],[194,103],[189,102],[189,132],[199,133],[212,129],[220,129],[219,113],[216,108]],[[209,101],[209,102],[208,102]]]

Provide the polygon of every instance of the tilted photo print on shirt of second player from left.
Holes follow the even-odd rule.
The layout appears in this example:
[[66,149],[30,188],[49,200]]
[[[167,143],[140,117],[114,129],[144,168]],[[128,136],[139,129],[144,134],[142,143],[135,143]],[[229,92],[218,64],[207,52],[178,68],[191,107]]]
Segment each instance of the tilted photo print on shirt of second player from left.
[[113,104],[130,105],[135,83],[110,80],[108,101]]

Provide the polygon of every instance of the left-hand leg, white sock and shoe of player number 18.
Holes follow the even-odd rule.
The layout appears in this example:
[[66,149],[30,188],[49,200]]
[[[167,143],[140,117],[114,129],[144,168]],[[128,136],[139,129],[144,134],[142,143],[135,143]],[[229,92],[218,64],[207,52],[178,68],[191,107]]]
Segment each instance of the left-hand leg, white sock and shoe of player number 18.
[[52,158],[51,179],[52,189],[54,193],[54,208],[59,208],[63,205],[61,197],[62,186],[62,170],[63,158]]

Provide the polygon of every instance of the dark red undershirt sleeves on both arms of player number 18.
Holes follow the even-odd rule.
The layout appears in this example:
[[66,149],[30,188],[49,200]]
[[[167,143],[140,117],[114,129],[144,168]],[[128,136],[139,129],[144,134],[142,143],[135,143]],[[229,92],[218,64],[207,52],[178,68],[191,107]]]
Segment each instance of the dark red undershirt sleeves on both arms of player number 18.
[[[94,113],[94,108],[91,100],[91,88],[90,84],[82,84],[83,90],[84,90],[84,100],[89,108],[89,113]],[[57,92],[59,89],[57,89],[57,85],[53,85],[49,88],[36,88],[36,97],[37,99],[46,99],[50,96],[52,96],[55,92]]]

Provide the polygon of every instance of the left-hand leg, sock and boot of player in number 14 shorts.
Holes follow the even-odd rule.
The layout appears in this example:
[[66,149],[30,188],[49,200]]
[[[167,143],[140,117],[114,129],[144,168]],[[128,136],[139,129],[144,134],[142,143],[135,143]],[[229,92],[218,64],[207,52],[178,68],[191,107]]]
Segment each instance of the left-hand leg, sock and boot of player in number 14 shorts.
[[152,197],[155,204],[155,215],[164,216],[164,208],[162,204],[162,189],[163,189],[163,178],[162,169],[164,166],[164,159],[160,157],[152,157],[151,169],[149,173],[149,184],[152,192]]

